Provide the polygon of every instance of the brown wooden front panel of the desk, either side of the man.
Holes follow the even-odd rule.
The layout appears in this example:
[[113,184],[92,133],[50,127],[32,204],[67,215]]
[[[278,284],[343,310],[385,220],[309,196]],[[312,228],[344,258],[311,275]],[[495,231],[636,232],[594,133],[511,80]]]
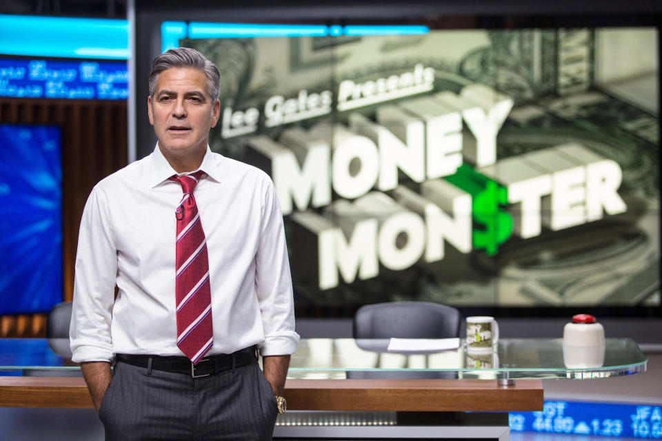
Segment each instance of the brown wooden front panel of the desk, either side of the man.
[[[288,380],[290,410],[541,411],[541,380]],[[0,377],[0,407],[91,408],[83,378]]]

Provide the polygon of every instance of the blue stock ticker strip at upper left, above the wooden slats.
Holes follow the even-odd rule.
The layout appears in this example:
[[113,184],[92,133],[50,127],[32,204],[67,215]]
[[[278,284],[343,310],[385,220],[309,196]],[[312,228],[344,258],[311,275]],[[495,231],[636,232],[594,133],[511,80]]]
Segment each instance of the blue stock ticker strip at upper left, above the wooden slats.
[[0,96],[124,100],[128,95],[126,61],[0,59]]

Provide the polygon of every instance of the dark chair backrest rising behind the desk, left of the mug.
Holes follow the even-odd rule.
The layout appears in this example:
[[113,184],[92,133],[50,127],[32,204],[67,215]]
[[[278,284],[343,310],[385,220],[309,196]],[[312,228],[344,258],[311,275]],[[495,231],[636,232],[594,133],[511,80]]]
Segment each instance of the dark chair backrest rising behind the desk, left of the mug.
[[365,305],[354,314],[354,338],[452,338],[460,335],[460,311],[432,302]]

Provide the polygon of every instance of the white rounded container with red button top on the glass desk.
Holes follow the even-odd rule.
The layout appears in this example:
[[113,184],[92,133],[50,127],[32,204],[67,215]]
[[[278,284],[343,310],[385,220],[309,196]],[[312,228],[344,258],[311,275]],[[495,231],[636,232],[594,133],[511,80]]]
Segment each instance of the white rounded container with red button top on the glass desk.
[[563,362],[569,369],[601,367],[605,361],[605,329],[594,316],[578,314],[563,328]]

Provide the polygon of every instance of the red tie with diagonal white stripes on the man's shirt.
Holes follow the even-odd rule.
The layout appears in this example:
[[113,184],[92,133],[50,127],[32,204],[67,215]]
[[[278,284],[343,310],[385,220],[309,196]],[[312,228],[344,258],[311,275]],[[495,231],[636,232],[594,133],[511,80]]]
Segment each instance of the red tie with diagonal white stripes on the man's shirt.
[[212,302],[209,288],[207,240],[202,229],[193,189],[203,172],[172,176],[181,185],[177,208],[177,347],[193,364],[213,345]]

